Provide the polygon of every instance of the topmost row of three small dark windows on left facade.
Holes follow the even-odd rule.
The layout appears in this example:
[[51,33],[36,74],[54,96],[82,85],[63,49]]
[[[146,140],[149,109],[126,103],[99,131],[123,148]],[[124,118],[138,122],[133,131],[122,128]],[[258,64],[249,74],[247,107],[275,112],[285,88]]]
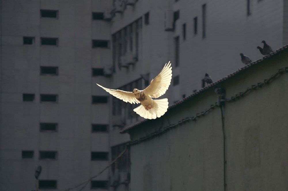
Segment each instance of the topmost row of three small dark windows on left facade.
[[[51,45],[58,46],[58,38],[40,38],[41,45]],[[35,44],[35,37],[23,37],[23,45],[33,45]],[[109,40],[92,40],[92,48],[109,48]]]

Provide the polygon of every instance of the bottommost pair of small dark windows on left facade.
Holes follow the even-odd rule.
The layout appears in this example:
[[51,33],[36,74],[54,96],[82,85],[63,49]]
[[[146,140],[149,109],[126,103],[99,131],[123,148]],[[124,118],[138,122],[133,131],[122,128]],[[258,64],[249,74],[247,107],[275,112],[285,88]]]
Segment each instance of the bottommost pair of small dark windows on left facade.
[[[39,189],[57,189],[57,180],[39,180]],[[107,180],[91,180],[91,189],[108,189]]]

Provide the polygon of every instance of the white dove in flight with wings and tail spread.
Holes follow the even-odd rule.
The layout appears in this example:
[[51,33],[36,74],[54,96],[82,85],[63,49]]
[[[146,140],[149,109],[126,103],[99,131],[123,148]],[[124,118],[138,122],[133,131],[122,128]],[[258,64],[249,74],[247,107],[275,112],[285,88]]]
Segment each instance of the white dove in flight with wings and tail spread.
[[171,83],[171,79],[172,67],[169,61],[168,64],[165,64],[161,72],[151,80],[150,85],[143,90],[133,89],[132,92],[120,89],[109,89],[99,84],[97,85],[124,102],[129,102],[130,104],[140,103],[141,105],[133,111],[145,119],[156,119],[164,115],[167,111],[168,99],[153,100],[152,98],[158,98],[164,95]]

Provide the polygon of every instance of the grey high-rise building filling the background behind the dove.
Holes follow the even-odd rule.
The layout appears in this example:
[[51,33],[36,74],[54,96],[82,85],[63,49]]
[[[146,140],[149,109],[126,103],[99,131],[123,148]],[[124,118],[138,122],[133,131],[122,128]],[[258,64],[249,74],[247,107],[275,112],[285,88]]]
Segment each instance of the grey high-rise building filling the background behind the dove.
[[[288,42],[285,0],[0,0],[0,190],[63,190],[97,174],[142,120],[132,91],[169,60],[169,104]],[[145,160],[145,159],[143,159]],[[129,153],[84,188],[129,190]]]

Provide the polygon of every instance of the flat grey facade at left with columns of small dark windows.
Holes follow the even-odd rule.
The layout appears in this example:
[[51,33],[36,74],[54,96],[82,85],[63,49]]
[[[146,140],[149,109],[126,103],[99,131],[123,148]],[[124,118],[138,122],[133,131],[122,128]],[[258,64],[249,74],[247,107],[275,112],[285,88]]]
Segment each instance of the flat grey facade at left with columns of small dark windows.
[[[109,164],[105,0],[1,0],[0,190],[63,190]],[[104,69],[104,70],[103,70]],[[105,171],[84,190],[109,189]]]

